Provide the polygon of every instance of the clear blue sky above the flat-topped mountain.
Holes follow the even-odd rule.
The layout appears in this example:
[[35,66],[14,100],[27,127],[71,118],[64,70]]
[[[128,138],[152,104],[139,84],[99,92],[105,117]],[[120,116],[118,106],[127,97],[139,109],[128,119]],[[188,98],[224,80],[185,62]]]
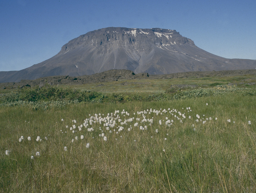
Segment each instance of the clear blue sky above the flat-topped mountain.
[[212,54],[256,59],[255,0],[1,0],[0,71],[42,62],[104,27],[172,29]]

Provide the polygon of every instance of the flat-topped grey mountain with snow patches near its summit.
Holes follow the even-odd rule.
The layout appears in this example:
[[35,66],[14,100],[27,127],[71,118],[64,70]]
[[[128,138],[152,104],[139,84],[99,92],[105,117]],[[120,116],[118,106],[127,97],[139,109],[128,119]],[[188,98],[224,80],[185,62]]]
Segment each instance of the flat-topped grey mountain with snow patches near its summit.
[[256,60],[219,57],[198,48],[175,30],[108,27],[80,35],[39,64],[19,71],[0,72],[0,82],[91,75],[112,69],[170,74],[254,68]]

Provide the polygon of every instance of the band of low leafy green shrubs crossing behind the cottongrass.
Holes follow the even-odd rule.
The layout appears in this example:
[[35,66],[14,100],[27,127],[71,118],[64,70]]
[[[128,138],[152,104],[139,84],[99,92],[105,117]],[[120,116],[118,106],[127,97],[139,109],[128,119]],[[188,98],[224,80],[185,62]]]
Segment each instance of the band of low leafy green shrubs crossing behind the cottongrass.
[[254,88],[240,88],[235,85],[217,85],[210,88],[172,87],[165,92],[154,93],[99,93],[59,87],[22,88],[17,92],[0,94],[0,106],[32,106],[35,110],[61,108],[73,103],[124,103],[128,101],[168,101],[203,96],[217,96],[226,93],[255,96]]

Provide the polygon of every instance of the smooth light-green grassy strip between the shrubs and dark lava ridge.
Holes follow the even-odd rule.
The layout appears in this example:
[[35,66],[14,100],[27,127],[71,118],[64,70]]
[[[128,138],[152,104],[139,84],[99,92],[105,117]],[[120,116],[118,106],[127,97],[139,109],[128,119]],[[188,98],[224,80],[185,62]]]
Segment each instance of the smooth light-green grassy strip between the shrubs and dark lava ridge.
[[76,89],[87,89],[102,93],[131,93],[145,92],[155,93],[164,92],[172,85],[186,84],[198,85],[198,87],[212,87],[215,85],[227,85],[228,83],[237,84],[238,87],[252,87],[256,77],[253,75],[226,76],[226,77],[204,77],[204,78],[177,78],[177,79],[141,79],[141,80],[118,80],[112,82],[87,83],[83,85],[61,85]]

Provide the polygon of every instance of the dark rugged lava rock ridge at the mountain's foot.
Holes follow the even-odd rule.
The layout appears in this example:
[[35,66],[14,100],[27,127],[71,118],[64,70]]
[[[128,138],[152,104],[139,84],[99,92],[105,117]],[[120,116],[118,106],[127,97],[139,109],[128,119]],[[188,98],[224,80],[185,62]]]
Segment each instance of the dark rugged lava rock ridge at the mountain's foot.
[[[256,75],[256,70],[224,70],[224,71],[201,71],[201,72],[180,72],[164,75],[150,75],[148,73],[135,74],[130,70],[108,70],[93,75],[51,76],[35,80],[21,80],[20,82],[0,83],[0,89],[23,88],[44,85],[82,85],[86,83],[110,82],[132,79],[173,79],[173,78],[202,78],[202,77],[225,77]],[[122,83],[125,84],[125,83]],[[177,85],[176,85],[177,86]]]

